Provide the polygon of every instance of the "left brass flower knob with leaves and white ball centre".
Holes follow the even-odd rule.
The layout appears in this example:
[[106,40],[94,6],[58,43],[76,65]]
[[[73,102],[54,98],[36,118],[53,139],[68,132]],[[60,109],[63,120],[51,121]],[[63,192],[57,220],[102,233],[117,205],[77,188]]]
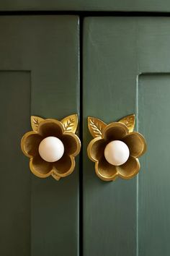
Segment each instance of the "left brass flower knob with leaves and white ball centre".
[[24,134],[21,148],[30,158],[30,170],[40,178],[50,175],[56,180],[68,176],[75,168],[75,156],[81,142],[75,135],[78,117],[76,114],[57,119],[42,119],[31,116],[32,131]]

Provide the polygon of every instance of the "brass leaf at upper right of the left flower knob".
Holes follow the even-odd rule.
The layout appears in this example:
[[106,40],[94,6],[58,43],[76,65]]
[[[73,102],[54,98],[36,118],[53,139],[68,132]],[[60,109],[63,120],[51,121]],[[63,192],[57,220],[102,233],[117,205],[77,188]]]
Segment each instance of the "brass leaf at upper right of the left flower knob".
[[61,120],[63,127],[66,132],[76,132],[78,126],[78,116],[77,114],[73,114],[71,116],[66,116],[64,119]]

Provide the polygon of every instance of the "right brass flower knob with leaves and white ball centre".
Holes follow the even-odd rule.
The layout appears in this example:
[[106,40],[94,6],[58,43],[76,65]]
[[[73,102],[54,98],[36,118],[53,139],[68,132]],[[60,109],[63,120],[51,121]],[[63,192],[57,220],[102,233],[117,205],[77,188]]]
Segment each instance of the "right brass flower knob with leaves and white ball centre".
[[113,181],[118,176],[131,179],[138,174],[138,157],[146,152],[146,140],[140,133],[133,132],[135,115],[125,116],[111,124],[89,117],[88,127],[94,139],[89,143],[87,153],[95,162],[100,179]]

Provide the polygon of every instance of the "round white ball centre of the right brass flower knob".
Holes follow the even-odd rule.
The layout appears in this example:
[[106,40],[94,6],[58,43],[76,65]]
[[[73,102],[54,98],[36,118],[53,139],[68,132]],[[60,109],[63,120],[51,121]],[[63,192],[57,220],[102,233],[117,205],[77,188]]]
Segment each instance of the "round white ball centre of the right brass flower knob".
[[109,142],[104,149],[104,156],[107,162],[114,166],[120,166],[125,163],[129,158],[129,154],[128,146],[120,140]]

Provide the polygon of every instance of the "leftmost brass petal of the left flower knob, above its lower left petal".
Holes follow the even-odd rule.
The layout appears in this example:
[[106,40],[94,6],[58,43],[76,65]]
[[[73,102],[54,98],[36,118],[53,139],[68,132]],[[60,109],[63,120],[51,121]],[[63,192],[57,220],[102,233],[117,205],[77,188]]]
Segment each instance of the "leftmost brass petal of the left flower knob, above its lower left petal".
[[22,137],[21,148],[24,155],[32,157],[38,154],[38,147],[42,140],[42,136],[37,135],[36,132],[27,132]]

